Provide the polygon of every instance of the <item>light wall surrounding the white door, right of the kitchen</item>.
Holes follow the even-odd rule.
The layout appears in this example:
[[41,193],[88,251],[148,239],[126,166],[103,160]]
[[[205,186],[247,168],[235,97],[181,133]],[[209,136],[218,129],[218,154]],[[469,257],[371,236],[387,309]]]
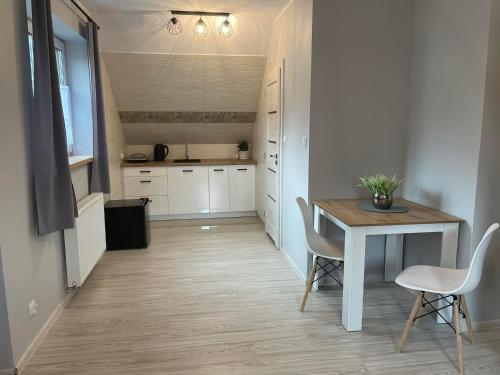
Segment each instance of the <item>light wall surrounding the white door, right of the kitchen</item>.
[[[309,136],[309,106],[311,86],[312,1],[294,0],[276,20],[269,46],[266,77],[285,60],[284,77],[284,136],[283,146],[283,249],[304,277],[307,270],[302,218],[295,202],[297,196],[308,197],[309,148],[302,145]],[[263,216],[265,186],[266,117],[264,89],[253,137],[253,157],[257,166],[257,204]]]

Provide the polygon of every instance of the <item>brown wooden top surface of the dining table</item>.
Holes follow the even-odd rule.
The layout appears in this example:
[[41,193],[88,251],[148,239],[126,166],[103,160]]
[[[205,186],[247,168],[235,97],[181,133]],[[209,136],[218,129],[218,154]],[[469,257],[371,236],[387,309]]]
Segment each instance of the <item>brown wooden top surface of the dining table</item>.
[[361,199],[333,199],[313,200],[312,203],[350,227],[460,223],[464,221],[456,216],[405,199],[394,200],[394,204],[409,208],[409,211],[404,213],[364,211],[357,207],[361,201]]

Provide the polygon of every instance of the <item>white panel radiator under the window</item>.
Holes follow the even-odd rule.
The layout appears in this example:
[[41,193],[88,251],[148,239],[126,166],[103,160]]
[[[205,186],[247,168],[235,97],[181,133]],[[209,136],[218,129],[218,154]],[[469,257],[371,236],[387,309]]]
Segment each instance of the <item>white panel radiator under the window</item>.
[[64,245],[68,287],[80,287],[106,250],[102,193],[78,202],[75,227],[64,231]]

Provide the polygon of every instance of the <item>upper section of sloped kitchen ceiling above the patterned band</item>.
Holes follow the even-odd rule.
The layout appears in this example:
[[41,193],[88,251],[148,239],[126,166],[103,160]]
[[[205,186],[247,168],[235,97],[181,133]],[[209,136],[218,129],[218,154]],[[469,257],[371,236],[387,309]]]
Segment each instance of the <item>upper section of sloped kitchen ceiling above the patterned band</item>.
[[104,53],[120,111],[256,111],[265,57]]

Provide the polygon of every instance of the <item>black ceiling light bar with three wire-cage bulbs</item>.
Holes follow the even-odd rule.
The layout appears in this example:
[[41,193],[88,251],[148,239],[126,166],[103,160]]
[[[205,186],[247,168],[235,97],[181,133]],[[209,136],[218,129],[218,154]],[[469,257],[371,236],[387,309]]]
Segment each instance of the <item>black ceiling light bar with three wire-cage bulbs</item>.
[[200,18],[194,25],[194,35],[197,37],[206,37],[210,30],[203,17],[225,17],[225,21],[220,24],[217,31],[220,37],[228,39],[233,35],[233,26],[229,22],[231,13],[227,12],[196,12],[184,10],[172,10],[172,18],[167,24],[167,30],[172,35],[178,35],[182,32],[181,21],[176,17],[177,15],[199,16]]

